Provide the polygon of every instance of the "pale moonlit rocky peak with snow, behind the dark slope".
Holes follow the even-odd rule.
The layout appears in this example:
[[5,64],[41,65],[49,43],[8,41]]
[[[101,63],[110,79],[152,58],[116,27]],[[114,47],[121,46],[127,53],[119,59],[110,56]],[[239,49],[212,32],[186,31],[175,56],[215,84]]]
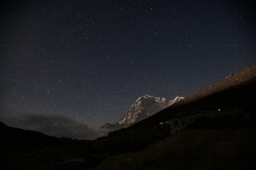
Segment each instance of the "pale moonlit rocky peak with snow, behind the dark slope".
[[141,121],[147,117],[152,116],[164,108],[184,99],[184,97],[176,97],[174,100],[166,100],[160,97],[152,97],[144,95],[131,106],[129,111],[119,120],[119,124],[127,125],[134,124],[135,122]]

